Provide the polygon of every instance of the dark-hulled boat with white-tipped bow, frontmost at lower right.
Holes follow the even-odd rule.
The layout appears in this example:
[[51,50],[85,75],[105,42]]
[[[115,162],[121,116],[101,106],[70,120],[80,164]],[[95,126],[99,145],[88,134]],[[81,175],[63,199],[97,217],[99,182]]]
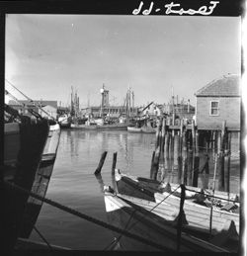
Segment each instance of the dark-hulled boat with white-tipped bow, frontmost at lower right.
[[[164,250],[168,253],[229,252],[227,249],[181,231],[178,219],[168,220],[152,213],[113,193],[109,187],[105,187],[104,200],[109,222],[149,241],[142,243],[115,233],[116,241],[124,250]],[[151,242],[160,246],[155,246]]]

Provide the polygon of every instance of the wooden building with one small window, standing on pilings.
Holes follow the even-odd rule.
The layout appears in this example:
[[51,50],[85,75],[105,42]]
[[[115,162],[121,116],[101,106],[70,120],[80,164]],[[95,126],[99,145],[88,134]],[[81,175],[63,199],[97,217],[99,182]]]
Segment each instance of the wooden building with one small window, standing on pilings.
[[199,129],[240,130],[240,76],[227,74],[196,93],[196,125]]

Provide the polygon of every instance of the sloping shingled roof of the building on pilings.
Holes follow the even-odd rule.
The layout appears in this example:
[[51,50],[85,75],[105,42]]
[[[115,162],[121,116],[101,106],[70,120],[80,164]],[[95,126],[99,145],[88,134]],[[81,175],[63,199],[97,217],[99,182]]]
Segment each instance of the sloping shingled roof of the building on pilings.
[[205,87],[196,93],[197,97],[202,96],[240,96],[240,76],[227,74],[218,79],[212,80]]

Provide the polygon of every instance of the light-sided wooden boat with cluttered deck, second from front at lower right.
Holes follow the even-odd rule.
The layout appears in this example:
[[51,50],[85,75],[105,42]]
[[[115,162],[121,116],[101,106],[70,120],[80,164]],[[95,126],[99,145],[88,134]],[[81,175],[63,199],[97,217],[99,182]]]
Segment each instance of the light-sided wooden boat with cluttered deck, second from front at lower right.
[[[173,195],[176,190],[170,190],[169,192],[163,191],[162,193],[154,188],[143,186],[138,180],[134,180],[132,177],[122,175],[119,170],[116,170],[116,183],[118,192],[130,197],[138,198],[141,200],[147,200],[155,202],[158,207],[153,210],[153,213],[157,213],[160,216],[167,219],[169,215],[173,215],[180,209],[181,197]],[[177,185],[177,189],[179,186]],[[198,192],[194,193],[194,196],[189,193],[184,202],[184,213],[188,221],[187,227],[191,230],[199,233],[211,233],[216,235],[223,230],[231,230],[232,240],[239,240],[239,213],[231,213],[238,209],[236,204],[232,204],[228,209],[226,205],[219,207],[218,205],[212,204],[212,196],[209,198],[205,195],[204,200],[200,197],[201,194]],[[201,198],[200,204],[198,199]],[[209,207],[206,205],[211,203]],[[222,199],[224,201],[224,199]],[[153,203],[152,203],[153,204]],[[144,204],[143,206],[150,206],[150,204]],[[211,207],[211,208],[210,208]],[[169,208],[169,211],[167,211]],[[171,213],[172,211],[172,213]],[[230,211],[230,212],[229,212]]]

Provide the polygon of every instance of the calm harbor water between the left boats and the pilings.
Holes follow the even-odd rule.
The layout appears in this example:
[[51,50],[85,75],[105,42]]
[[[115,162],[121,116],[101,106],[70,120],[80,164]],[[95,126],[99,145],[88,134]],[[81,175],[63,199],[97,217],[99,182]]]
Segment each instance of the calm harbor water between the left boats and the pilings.
[[[237,139],[236,136],[236,142],[232,141],[234,154],[230,190],[234,193],[239,193],[240,183]],[[129,133],[126,130],[63,129],[46,198],[107,222],[102,184],[94,175],[102,153],[108,151],[101,172],[105,185],[112,186],[114,152],[118,152],[117,168],[122,172],[149,178],[155,140],[155,134]],[[171,171],[168,172],[171,175]],[[176,165],[172,176],[173,182],[176,182]],[[200,175],[199,185],[203,184],[203,178],[204,175]],[[102,251],[115,238],[111,230],[45,203],[36,227],[50,244],[75,250]],[[30,238],[41,241],[35,230]]]

